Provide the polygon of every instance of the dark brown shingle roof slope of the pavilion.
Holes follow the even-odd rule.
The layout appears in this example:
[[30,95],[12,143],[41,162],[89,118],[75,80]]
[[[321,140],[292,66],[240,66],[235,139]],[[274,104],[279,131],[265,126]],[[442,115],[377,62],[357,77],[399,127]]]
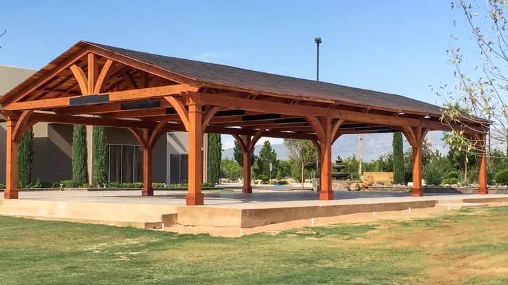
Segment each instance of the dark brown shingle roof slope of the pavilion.
[[[88,42],[89,43],[89,42]],[[170,56],[149,54],[126,50],[120,47],[111,47],[99,43],[89,43],[101,47],[104,50],[115,52],[131,59],[155,65],[169,72],[173,72],[196,81],[213,83],[243,89],[253,89],[258,92],[271,92],[306,98],[318,98],[337,101],[339,103],[362,105],[374,109],[393,109],[402,112],[428,114],[440,116],[440,107],[407,98],[400,95],[377,92],[368,89],[348,87],[322,81],[269,74],[245,70],[239,67],[231,67],[215,63],[205,63],[190,59],[179,59]]]

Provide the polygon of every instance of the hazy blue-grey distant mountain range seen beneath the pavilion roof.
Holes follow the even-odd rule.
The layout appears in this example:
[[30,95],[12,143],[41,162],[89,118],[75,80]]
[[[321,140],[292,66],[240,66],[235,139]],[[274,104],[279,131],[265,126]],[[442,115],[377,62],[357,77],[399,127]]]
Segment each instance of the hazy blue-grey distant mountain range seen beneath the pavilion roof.
[[[393,134],[365,134],[362,141],[363,161],[374,160],[383,154],[391,152],[391,141]],[[427,140],[430,136],[427,134]],[[442,131],[432,132],[432,149],[439,150],[441,154],[448,150],[444,147],[444,142],[441,140]],[[288,154],[286,147],[283,144],[271,145],[277,154],[277,159],[286,160]],[[256,145],[255,154],[259,154],[262,145]],[[407,140],[404,139],[404,151],[409,148]],[[349,156],[357,156],[358,158],[358,135],[345,135],[338,138],[332,146],[332,159],[335,160],[337,156],[341,158],[348,158]],[[224,149],[222,151],[222,158],[233,159],[233,148]]]

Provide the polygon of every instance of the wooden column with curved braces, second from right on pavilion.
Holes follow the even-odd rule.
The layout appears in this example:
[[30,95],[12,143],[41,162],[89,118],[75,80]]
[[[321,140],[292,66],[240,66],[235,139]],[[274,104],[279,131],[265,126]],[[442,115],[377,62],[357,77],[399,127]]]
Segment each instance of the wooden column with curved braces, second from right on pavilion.
[[402,134],[413,148],[413,188],[411,196],[423,196],[422,187],[422,144],[428,129],[423,127],[402,127]]

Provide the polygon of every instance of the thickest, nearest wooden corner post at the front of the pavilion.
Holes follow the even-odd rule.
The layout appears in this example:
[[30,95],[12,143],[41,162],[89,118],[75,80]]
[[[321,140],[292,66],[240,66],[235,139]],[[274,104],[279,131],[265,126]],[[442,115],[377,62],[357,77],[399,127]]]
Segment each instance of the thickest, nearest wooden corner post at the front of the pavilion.
[[204,204],[201,192],[201,147],[203,144],[202,106],[188,104],[188,193],[187,205]]

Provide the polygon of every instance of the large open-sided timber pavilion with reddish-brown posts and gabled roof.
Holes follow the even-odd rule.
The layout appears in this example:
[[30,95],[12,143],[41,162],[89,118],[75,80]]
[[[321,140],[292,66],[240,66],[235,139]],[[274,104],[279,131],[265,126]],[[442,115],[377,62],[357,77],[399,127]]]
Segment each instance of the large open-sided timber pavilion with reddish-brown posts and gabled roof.
[[[312,140],[320,154],[321,200],[332,200],[331,145],[343,134],[401,131],[413,147],[413,196],[422,196],[422,142],[450,130],[441,109],[411,98],[177,59],[80,41],[0,98],[7,126],[6,199],[17,192],[17,143],[37,122],[129,129],[143,147],[143,196],[153,196],[152,148],[167,131],[188,132],[186,204],[204,204],[204,133],[231,134],[244,151],[244,193],[251,193],[251,151],[262,136]],[[485,124],[470,120],[480,145],[478,193],[487,193]],[[484,122],[488,123],[488,122]],[[460,125],[451,125],[460,128]]]

